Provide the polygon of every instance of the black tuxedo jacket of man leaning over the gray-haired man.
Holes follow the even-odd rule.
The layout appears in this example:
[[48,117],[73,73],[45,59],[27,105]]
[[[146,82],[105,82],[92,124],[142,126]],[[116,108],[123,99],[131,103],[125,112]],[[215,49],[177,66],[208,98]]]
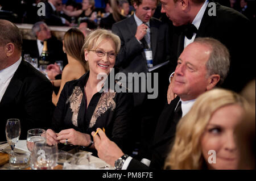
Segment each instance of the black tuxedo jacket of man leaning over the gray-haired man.
[[[213,2],[210,0],[209,2]],[[234,91],[241,91],[247,82],[255,78],[251,66],[255,45],[255,33],[249,20],[240,12],[216,3],[216,16],[209,16],[207,7],[204,12],[196,37],[213,37],[221,41],[229,49],[231,64],[228,77],[222,87]],[[181,33],[179,27],[172,26],[171,71],[176,68],[177,58],[183,48],[179,47]]]

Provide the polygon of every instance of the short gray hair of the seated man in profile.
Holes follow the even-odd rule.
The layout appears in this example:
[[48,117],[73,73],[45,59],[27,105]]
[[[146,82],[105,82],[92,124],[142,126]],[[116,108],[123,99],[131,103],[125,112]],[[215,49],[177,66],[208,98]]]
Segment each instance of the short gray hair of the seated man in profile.
[[230,55],[228,48],[220,41],[211,37],[196,38],[196,43],[208,45],[211,48],[209,60],[206,63],[208,75],[220,75],[220,81],[217,86],[220,86],[229,72]]

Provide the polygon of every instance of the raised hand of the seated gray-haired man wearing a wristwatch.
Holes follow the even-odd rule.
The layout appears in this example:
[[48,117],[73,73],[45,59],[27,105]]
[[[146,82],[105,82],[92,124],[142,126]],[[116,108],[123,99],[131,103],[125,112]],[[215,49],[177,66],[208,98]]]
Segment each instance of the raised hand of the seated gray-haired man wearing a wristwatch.
[[94,146],[98,151],[98,157],[114,167],[115,161],[124,155],[123,151],[113,141],[110,141],[101,129],[96,136],[94,136],[94,134],[95,132],[92,132]]

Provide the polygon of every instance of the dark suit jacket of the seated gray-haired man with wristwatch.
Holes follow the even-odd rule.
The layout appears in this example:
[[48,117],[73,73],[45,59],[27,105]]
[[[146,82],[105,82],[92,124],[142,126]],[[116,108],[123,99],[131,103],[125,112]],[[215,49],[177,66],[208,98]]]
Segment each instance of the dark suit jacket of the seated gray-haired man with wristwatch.
[[175,138],[178,122],[173,121],[172,118],[179,99],[177,96],[170,104],[166,104],[159,117],[153,144],[146,156],[148,159],[151,159],[150,167],[147,167],[136,159],[132,159],[127,169],[163,169],[164,161],[171,150],[171,144]]

